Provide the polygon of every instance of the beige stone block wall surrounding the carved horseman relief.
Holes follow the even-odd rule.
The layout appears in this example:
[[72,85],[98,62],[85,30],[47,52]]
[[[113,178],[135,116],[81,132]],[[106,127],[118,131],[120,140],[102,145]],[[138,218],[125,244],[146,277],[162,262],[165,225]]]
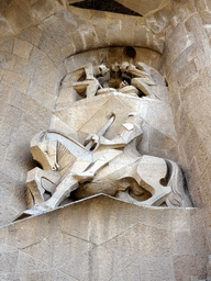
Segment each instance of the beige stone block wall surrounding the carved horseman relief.
[[[116,1],[143,16],[70,2],[77,1],[0,3],[1,280],[206,280],[210,0]],[[151,155],[180,165],[196,209],[147,209],[99,195],[11,224],[26,209],[26,173],[36,166],[30,142],[52,126],[62,80],[90,54],[100,57],[104,49],[116,59],[127,46],[167,81],[177,140],[167,148],[159,143]]]

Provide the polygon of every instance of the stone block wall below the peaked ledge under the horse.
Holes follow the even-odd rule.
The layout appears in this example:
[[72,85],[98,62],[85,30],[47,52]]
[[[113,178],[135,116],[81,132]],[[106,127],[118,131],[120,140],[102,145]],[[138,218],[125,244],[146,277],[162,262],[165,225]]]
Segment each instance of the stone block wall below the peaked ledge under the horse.
[[198,215],[197,209],[89,198],[0,228],[0,279],[203,279],[206,245],[195,225]]

